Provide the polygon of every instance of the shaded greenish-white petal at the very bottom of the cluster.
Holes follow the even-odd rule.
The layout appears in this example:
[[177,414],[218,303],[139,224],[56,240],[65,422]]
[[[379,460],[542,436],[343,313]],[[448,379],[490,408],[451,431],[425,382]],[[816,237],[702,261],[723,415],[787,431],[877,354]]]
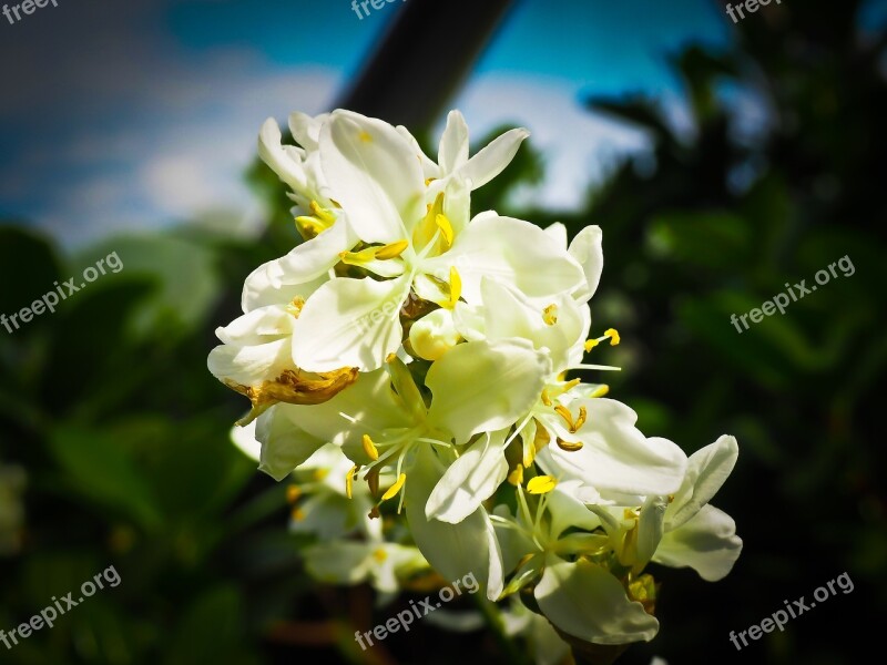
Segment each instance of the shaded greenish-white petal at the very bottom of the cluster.
[[534,594],[555,626],[585,642],[649,642],[659,631],[656,618],[629,600],[619,580],[585,560],[551,557]]

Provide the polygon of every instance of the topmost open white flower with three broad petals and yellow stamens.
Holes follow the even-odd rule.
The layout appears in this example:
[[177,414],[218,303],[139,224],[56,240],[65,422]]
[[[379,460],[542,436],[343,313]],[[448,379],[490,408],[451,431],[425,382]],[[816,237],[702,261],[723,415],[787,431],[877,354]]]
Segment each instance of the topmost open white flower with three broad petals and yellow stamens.
[[299,367],[381,367],[400,346],[399,313],[411,291],[451,309],[460,298],[478,301],[488,275],[538,298],[584,282],[565,248],[528,222],[485,213],[460,228],[442,193],[426,206],[415,151],[387,123],[336,111],[322,127],[319,150],[332,196],[370,245],[341,260],[375,278],[335,278],[308,298],[294,330]]

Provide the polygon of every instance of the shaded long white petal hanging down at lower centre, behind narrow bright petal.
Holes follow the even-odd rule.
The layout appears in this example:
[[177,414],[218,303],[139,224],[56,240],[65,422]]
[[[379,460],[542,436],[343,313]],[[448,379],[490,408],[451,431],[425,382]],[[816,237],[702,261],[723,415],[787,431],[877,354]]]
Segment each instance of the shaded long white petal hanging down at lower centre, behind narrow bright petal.
[[443,475],[443,466],[430,447],[421,447],[407,470],[406,511],[410,533],[428,562],[446,580],[473,573],[496,600],[502,593],[502,555],[490,518],[479,508],[458,524],[425,516],[425,505]]

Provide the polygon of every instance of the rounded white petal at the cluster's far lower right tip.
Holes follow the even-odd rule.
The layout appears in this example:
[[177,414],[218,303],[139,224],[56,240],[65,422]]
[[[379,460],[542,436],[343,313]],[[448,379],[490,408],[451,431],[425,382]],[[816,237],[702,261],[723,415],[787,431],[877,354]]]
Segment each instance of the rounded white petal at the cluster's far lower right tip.
[[672,567],[690,566],[707,582],[726,576],[742,552],[736,523],[725,512],[705,505],[680,529],[665,533],[653,561]]

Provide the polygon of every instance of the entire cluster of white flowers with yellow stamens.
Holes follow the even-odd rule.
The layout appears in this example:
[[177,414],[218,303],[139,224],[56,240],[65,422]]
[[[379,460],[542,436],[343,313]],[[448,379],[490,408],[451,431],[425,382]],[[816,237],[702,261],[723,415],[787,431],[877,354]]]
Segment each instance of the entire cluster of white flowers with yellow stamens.
[[613,369],[584,362],[619,344],[590,337],[601,229],[568,244],[560,224],[470,214],[524,130],[469,156],[453,111],[436,162],[406,129],[348,111],[296,113],[290,130],[298,145],[267,121],[259,154],[304,242],[247,277],[208,366],[251,400],[239,424],[255,421],[261,469],[298,469],[319,492],[294,511],[322,540],[309,570],[385,591],[428,564],[475,573],[562,635],[652,638],[649,562],[713,581],[738,556],[733,520],[708,505],[737,446],[687,458],[606,386],[568,378]]

